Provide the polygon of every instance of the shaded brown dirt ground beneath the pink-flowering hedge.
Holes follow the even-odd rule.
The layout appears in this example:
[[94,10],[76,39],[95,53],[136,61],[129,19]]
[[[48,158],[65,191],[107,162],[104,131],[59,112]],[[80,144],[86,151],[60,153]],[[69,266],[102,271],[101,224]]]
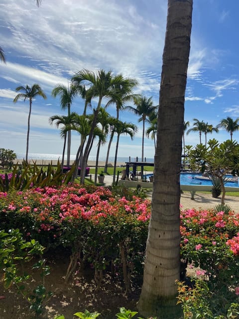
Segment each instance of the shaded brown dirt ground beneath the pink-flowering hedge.
[[[104,281],[99,291],[96,291],[94,271],[84,269],[76,273],[68,284],[64,284],[69,263],[68,256],[59,255],[52,262],[49,258],[47,264],[51,267],[51,273],[46,277],[45,287],[54,295],[46,303],[46,311],[42,319],[54,319],[56,315],[64,315],[65,319],[76,318],[76,312],[97,311],[101,318],[116,318],[120,307],[135,310],[139,298],[140,289],[134,288],[127,296],[124,294],[123,284],[120,280],[112,282],[109,273],[104,275]],[[31,274],[29,269],[28,274]],[[0,274],[2,276],[2,274]],[[39,280],[39,276],[32,278],[32,282]],[[16,293],[14,287],[4,290],[0,283],[0,319],[33,319],[29,311],[29,304],[21,295]]]

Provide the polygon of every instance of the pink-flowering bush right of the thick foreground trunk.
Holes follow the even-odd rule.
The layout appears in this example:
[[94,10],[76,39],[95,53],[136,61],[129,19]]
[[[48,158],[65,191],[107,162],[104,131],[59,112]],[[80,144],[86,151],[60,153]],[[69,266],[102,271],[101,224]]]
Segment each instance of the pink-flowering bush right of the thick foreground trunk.
[[[181,221],[182,260],[199,267],[197,276],[202,276],[210,294],[216,295],[210,301],[214,316],[219,315],[218,311],[225,315],[228,305],[236,302],[239,286],[239,215],[188,209],[181,212]],[[207,304],[200,295],[198,299],[197,303]]]

